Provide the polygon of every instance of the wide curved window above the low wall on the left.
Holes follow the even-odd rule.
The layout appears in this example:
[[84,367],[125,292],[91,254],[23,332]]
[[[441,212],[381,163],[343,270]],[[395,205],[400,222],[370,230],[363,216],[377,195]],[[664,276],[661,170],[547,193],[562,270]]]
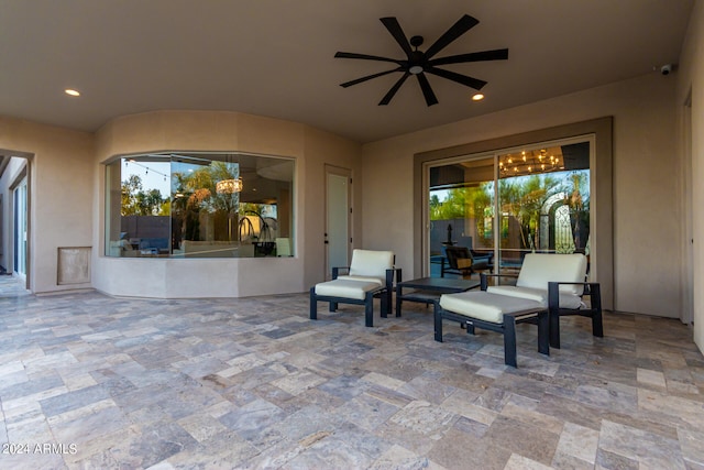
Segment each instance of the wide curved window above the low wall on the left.
[[106,168],[106,255],[293,255],[294,164],[244,153],[122,156]]

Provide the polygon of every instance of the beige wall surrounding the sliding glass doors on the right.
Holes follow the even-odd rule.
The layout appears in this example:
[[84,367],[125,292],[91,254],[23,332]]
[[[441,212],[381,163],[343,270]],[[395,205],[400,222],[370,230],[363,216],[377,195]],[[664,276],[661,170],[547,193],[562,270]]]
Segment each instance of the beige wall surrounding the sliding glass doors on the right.
[[[682,214],[675,184],[680,161],[673,152],[674,84],[672,77],[653,73],[364,145],[365,244],[394,250],[404,277],[421,274],[414,272],[414,256],[420,255],[413,240],[419,229],[414,227],[414,154],[613,116],[614,305],[609,308],[679,317]],[[393,186],[391,174],[396,175]]]

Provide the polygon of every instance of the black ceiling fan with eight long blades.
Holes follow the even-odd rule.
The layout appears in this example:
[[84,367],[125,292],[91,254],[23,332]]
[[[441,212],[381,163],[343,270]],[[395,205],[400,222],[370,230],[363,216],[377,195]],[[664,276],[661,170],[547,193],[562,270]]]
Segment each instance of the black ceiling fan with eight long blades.
[[430,47],[426,50],[426,52],[418,51],[418,47],[424,43],[422,36],[413,36],[410,37],[410,40],[406,39],[406,34],[404,33],[404,30],[400,28],[400,24],[398,23],[398,20],[396,20],[396,18],[382,18],[381,22],[384,23],[384,26],[386,26],[392,36],[394,36],[398,45],[400,45],[400,48],[404,50],[404,52],[406,53],[406,58],[396,59],[389,57],[378,57],[376,55],[355,54],[351,52],[338,52],[334,55],[339,58],[361,58],[364,61],[392,62],[398,65],[398,67],[391,70],[380,72],[377,74],[367,75],[355,80],[340,84],[341,87],[346,88],[351,87],[352,85],[371,80],[372,78],[393,74],[394,72],[403,73],[404,75],[402,75],[402,77],[396,81],[396,84],[394,84],[394,86],[388,90],[384,98],[382,98],[378,103],[380,106],[388,105],[392,98],[394,98],[394,95],[396,95],[396,91],[398,91],[404,81],[406,81],[406,79],[411,75],[415,75],[418,79],[418,84],[420,85],[420,89],[422,90],[422,95],[426,98],[426,103],[428,106],[437,105],[438,98],[432,91],[426,74],[437,75],[438,77],[447,78],[470,88],[474,88],[475,90],[480,90],[484,85],[486,85],[486,81],[469,77],[466,75],[458,74],[455,72],[438,68],[438,66],[447,64],[462,64],[468,62],[503,61],[508,58],[507,48],[497,48],[493,51],[473,52],[469,54],[459,54],[433,58],[436,54],[438,54],[448,44],[479,24],[479,20],[470,17],[469,14],[460,18],[460,20],[458,20],[457,23],[454,23],[448,31],[446,31],[444,34],[442,34]]

